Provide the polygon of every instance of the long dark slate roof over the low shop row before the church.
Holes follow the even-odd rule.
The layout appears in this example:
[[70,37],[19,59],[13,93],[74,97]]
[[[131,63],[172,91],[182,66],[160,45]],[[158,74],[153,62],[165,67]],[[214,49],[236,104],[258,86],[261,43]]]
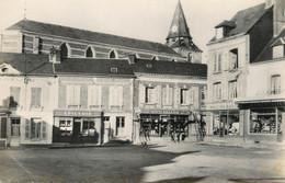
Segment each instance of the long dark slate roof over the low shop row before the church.
[[[22,75],[134,77],[135,72],[139,72],[207,77],[206,65],[163,60],[137,59],[135,64],[129,65],[127,59],[65,58],[53,67],[48,55],[0,53],[0,65],[3,62],[11,65]],[[117,71],[112,72],[112,68],[116,68]]]

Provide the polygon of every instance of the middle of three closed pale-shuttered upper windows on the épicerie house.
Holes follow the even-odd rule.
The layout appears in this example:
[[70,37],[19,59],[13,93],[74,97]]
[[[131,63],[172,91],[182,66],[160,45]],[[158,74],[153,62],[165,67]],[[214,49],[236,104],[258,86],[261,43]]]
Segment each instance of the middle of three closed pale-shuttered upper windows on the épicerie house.
[[88,102],[89,106],[101,106],[101,95],[102,87],[101,85],[90,85],[88,88]]

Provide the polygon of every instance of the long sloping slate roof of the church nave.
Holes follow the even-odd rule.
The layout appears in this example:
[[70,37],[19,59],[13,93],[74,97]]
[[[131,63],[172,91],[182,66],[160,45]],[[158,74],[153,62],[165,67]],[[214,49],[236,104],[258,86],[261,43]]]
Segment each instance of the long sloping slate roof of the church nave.
[[38,34],[46,34],[50,36],[61,36],[68,38],[82,39],[88,42],[98,42],[110,45],[125,46],[130,48],[150,50],[161,54],[171,54],[176,57],[181,57],[172,48],[148,41],[135,39],[129,37],[123,37],[117,35],[98,33],[92,31],[79,30],[75,27],[35,22],[31,20],[22,20],[7,30],[29,31]]

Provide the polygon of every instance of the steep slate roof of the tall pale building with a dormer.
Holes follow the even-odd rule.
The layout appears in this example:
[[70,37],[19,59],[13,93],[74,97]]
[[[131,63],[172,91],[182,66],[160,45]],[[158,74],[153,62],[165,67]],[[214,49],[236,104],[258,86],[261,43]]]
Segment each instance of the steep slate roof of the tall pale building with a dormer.
[[[271,9],[265,9],[265,3],[244,9],[236,13],[236,15],[229,22],[236,22],[236,27],[233,27],[227,35],[235,36],[239,34],[247,34],[251,27],[261,19],[261,16],[270,11]],[[225,22],[225,21],[224,21]],[[221,22],[223,23],[223,22]],[[221,24],[220,23],[220,24]],[[218,25],[217,25],[218,26]],[[214,42],[216,38],[209,41]]]

